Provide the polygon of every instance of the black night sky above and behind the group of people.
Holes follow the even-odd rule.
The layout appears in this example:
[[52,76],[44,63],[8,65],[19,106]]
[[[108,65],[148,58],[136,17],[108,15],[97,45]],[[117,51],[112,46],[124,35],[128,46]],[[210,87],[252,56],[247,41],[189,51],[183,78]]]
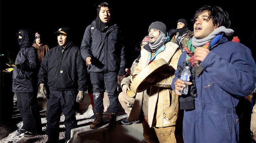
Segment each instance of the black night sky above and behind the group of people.
[[[54,2],[54,3],[53,3]],[[59,3],[58,3],[59,2]],[[102,1],[1,1],[0,4],[0,52],[18,51],[17,33],[20,29],[30,29],[41,34],[44,42],[50,48],[57,45],[54,35],[60,27],[69,27],[73,32],[73,41],[81,45],[85,28],[95,20],[97,5]],[[240,1],[220,4],[220,1],[204,3],[191,1],[107,1],[112,6],[111,21],[117,23],[122,30],[126,45],[128,65],[139,54],[139,43],[147,34],[148,26],[155,21],[167,25],[167,29],[176,28],[177,20],[184,18],[192,29],[192,19],[195,11],[203,5],[220,6],[227,11],[231,20],[230,28],[235,31],[228,37],[239,36],[240,42],[251,49],[255,59],[255,8],[253,4]],[[31,6],[33,5],[33,6]],[[137,48],[135,48],[137,47]],[[136,51],[137,50],[137,51]]]

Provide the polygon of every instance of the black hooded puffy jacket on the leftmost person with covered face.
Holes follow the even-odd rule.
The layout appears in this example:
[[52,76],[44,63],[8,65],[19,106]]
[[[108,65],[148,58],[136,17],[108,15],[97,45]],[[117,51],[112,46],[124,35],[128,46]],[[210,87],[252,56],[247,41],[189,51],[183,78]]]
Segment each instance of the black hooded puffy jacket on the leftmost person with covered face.
[[20,51],[17,54],[15,64],[18,68],[13,69],[12,91],[18,93],[31,93],[33,87],[37,85],[37,51],[30,45],[29,31],[19,30],[21,39],[19,39]]

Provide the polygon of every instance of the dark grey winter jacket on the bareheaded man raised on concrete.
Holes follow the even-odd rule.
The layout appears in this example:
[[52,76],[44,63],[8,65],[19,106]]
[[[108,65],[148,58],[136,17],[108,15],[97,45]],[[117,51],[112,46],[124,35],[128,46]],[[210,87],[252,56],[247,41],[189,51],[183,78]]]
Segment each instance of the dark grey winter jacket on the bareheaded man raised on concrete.
[[[90,34],[90,29],[94,31]],[[92,58],[92,64],[88,65],[89,72],[118,72],[125,67],[124,46],[122,37],[116,24],[112,25],[106,33],[96,29],[95,21],[87,26],[81,44],[81,54],[86,61],[87,57]]]

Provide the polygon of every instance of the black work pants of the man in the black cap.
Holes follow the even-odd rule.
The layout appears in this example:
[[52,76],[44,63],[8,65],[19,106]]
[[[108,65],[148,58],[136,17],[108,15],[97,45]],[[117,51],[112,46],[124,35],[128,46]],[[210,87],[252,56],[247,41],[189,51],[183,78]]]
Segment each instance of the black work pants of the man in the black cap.
[[59,122],[61,112],[65,115],[65,141],[71,136],[71,129],[76,128],[76,102],[77,91],[53,91],[50,90],[50,98],[47,100],[46,109],[46,135],[53,140],[59,139]]

